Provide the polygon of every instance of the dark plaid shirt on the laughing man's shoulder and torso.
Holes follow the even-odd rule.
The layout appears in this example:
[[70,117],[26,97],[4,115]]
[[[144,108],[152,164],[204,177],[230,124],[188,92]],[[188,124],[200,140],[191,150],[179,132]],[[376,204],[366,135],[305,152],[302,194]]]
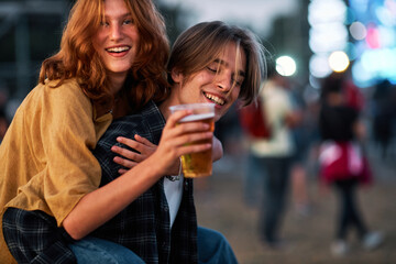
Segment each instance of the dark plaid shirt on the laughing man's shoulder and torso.
[[[158,144],[164,125],[165,120],[152,101],[139,114],[114,120],[94,151],[102,167],[100,185],[119,177],[121,166],[113,162],[116,154],[110,151],[118,136],[133,139],[139,134]],[[197,263],[193,180],[185,179],[180,207],[172,230],[162,178],[92,235],[129,248],[146,263]]]

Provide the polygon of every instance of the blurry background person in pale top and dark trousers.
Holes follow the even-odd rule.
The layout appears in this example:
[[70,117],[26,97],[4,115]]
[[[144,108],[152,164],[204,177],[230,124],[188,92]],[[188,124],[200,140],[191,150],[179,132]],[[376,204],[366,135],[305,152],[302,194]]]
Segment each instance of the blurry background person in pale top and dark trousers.
[[264,182],[260,234],[271,249],[282,249],[284,245],[279,233],[295,152],[290,128],[298,120],[287,85],[287,80],[276,72],[275,63],[268,64],[268,80],[263,82],[260,98],[271,136],[250,139],[251,161],[248,169],[260,172]]

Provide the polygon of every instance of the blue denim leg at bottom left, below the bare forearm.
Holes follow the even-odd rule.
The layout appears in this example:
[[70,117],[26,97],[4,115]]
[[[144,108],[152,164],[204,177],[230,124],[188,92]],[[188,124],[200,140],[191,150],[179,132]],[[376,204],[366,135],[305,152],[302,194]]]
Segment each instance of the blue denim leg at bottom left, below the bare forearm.
[[131,250],[111,241],[87,237],[68,244],[78,264],[144,264]]

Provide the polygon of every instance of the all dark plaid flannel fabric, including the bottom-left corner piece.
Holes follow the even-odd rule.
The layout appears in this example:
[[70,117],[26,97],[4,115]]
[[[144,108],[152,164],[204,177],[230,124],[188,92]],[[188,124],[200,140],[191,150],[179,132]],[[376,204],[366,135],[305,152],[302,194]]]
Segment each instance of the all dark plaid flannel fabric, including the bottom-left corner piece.
[[[119,176],[120,166],[113,163],[114,154],[110,151],[117,143],[117,136],[132,139],[139,134],[158,144],[164,125],[165,120],[152,101],[141,113],[114,120],[94,151],[102,167],[100,186]],[[20,263],[76,263],[67,248],[72,238],[63,228],[56,227],[53,217],[42,211],[9,208],[3,217],[3,231],[10,251]],[[161,179],[91,235],[129,248],[147,264],[197,263],[193,180],[185,179],[180,207],[172,230],[164,180]]]

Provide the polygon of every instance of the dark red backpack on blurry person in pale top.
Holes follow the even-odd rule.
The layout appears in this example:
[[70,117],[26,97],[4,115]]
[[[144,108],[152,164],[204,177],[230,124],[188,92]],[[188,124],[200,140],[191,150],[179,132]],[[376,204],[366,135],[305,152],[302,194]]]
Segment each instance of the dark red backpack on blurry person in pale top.
[[239,110],[240,123],[243,131],[255,139],[270,139],[272,136],[271,127],[265,116],[260,99]]

